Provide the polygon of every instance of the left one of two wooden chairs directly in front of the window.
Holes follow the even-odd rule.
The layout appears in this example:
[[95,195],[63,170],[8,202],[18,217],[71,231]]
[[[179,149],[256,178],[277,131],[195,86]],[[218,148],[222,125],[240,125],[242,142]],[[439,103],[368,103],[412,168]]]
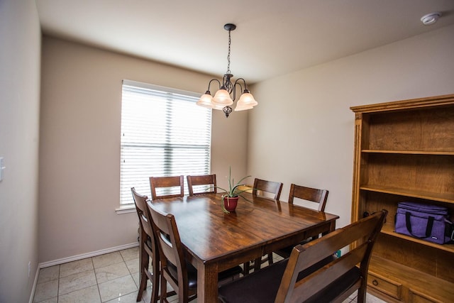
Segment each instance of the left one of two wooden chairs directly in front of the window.
[[[177,189],[179,187],[179,191]],[[184,196],[184,177],[150,177],[151,199],[165,199]],[[157,194],[159,193],[159,194]]]

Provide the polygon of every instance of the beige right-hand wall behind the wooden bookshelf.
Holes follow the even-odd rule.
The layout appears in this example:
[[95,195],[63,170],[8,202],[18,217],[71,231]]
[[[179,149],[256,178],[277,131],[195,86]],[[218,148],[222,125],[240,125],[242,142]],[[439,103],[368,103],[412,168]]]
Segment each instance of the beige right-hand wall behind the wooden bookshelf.
[[256,84],[248,174],[329,190],[326,211],[350,222],[350,106],[454,93],[454,26]]

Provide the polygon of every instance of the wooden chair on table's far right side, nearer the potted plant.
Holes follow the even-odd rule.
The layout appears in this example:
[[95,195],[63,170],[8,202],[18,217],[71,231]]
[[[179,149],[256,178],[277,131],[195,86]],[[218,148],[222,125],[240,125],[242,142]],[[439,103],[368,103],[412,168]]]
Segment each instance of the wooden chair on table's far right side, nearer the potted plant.
[[[273,182],[255,178],[253,185],[253,197],[272,197],[273,199],[279,200],[279,198],[281,197],[282,185],[282,182]],[[271,265],[273,263],[272,253],[268,253],[262,258],[253,260],[252,265],[254,267],[254,270],[260,270],[260,266],[266,262],[268,262],[268,265]],[[245,275],[248,275],[248,273],[250,272],[250,263],[251,262],[243,263]]]

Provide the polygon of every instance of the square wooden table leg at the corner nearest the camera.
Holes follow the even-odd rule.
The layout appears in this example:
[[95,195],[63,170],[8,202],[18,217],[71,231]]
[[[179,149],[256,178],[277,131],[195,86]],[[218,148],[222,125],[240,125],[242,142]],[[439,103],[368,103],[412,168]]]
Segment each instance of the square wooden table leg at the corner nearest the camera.
[[197,266],[197,302],[218,302],[218,265]]

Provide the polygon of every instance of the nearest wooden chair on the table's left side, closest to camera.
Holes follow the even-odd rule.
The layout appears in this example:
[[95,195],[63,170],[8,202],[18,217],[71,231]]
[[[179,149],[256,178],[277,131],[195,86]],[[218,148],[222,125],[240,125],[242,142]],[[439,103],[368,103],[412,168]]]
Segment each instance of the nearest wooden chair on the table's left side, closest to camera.
[[[179,237],[175,216],[148,204],[153,231],[160,258],[161,302],[167,301],[167,282],[177,292],[178,302],[186,303],[196,298],[197,270],[184,258],[184,248]],[[218,273],[218,281],[226,282],[239,277],[240,266]]]

